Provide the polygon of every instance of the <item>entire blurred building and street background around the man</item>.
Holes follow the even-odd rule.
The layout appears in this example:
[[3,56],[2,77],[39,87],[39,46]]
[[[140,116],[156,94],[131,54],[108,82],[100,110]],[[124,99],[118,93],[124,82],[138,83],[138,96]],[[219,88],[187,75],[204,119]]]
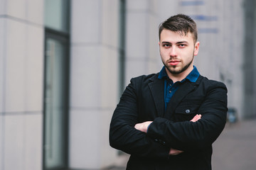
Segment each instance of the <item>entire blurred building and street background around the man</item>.
[[112,113],[160,71],[158,26],[177,13],[198,24],[198,71],[228,87],[213,169],[255,169],[255,0],[0,0],[0,169],[122,169]]

